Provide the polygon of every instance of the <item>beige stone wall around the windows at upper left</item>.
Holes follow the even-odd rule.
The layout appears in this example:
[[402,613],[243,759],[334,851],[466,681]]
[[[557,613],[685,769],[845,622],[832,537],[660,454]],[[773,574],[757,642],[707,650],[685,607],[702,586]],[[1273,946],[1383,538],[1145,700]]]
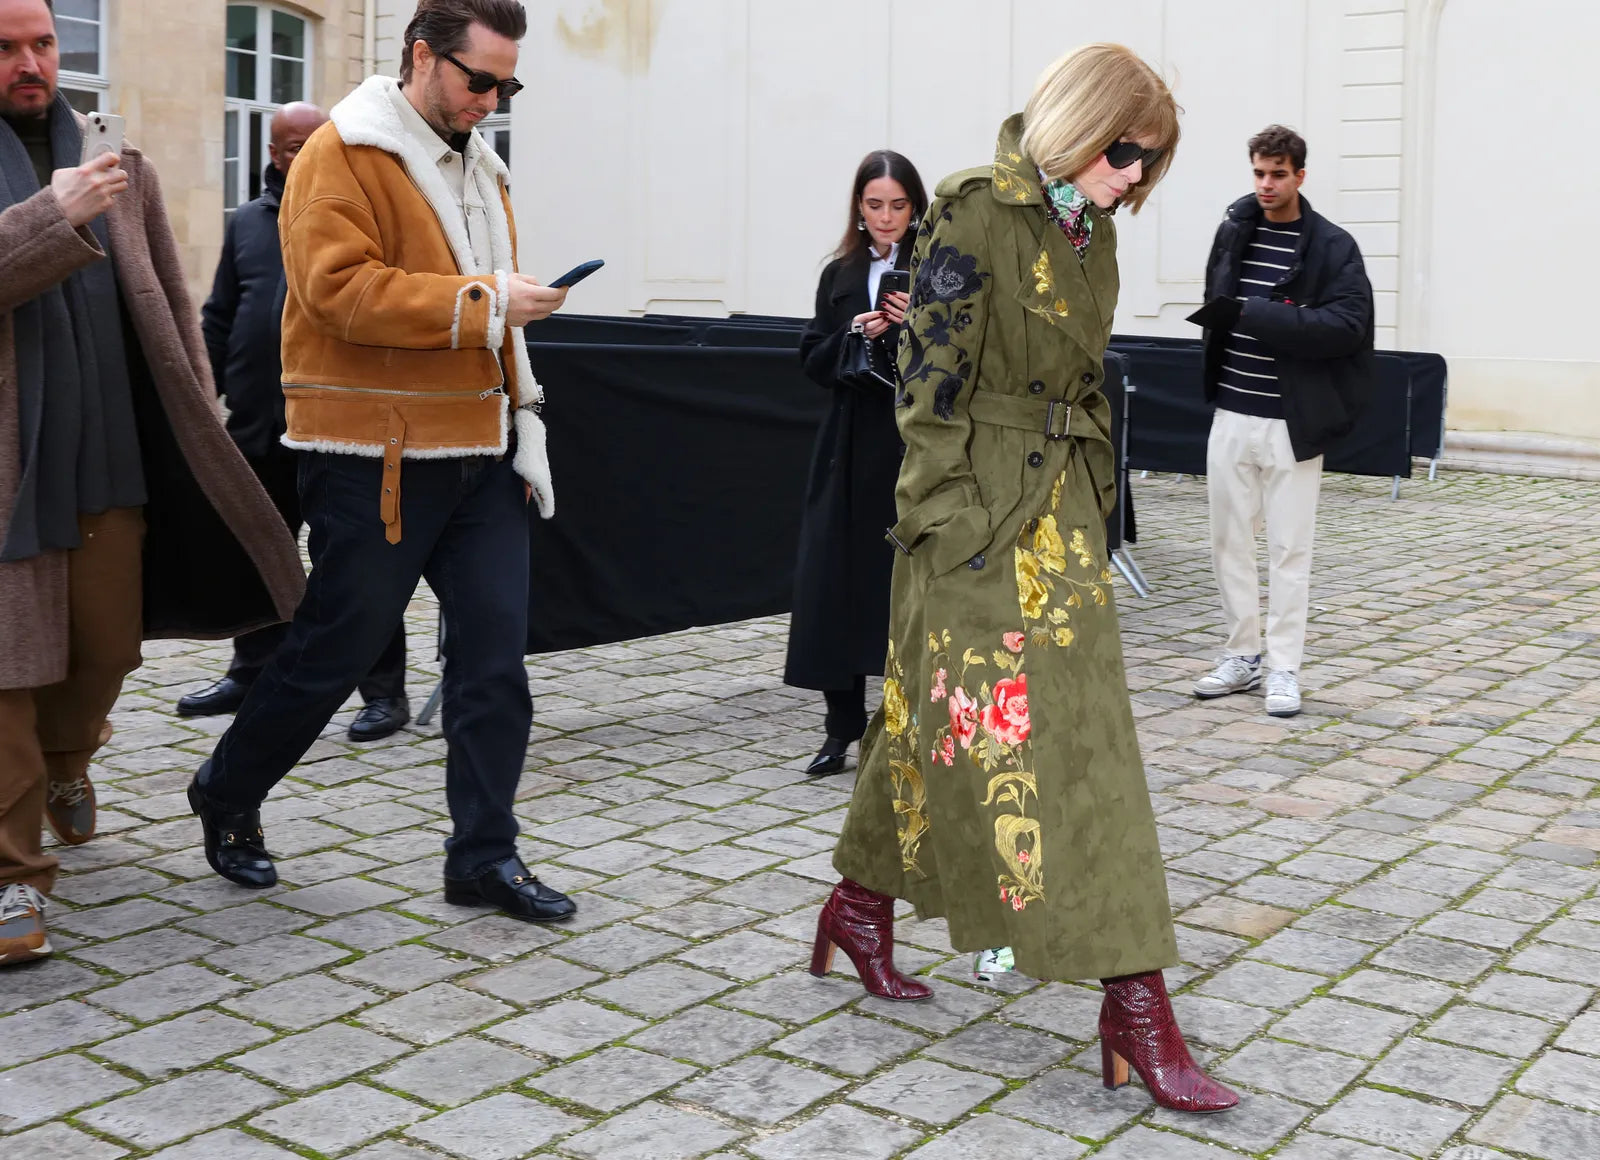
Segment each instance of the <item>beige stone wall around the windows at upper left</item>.
[[[309,21],[309,96],[322,106],[365,75],[378,0],[256,5]],[[190,290],[202,301],[222,246],[227,0],[58,0],[58,16],[102,18],[99,107],[128,118],[128,139],[162,176]],[[70,83],[70,82],[69,82]]]

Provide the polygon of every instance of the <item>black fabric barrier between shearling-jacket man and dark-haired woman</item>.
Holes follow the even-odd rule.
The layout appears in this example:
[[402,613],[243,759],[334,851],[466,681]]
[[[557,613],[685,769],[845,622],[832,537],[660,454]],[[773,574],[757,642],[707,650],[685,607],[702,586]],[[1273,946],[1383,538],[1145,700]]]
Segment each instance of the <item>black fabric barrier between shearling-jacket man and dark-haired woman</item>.
[[557,498],[555,518],[531,518],[530,653],[789,608],[827,403],[794,349],[531,342],[528,355],[549,392]]

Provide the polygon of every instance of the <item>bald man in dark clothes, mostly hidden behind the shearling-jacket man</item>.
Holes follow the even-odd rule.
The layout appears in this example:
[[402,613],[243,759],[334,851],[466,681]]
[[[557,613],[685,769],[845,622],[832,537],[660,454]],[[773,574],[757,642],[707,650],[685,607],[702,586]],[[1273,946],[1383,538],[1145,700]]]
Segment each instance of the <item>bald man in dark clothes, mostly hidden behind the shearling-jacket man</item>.
[[[227,398],[227,434],[277,504],[290,531],[299,534],[296,474],[299,453],[283,446],[283,250],[278,243],[278,200],[283,181],[306,139],[328,115],[312,104],[288,104],[272,117],[272,163],[262,173],[261,197],[234,211],[222,242],[211,296],[200,312],[216,390]],[[234,661],[222,680],[178,701],[181,717],[230,714],[245,701],[286,624],[274,624],[234,640]],[[411,720],[405,696],[405,626],[362,682],[366,706],[350,723],[352,741],[378,741]]]

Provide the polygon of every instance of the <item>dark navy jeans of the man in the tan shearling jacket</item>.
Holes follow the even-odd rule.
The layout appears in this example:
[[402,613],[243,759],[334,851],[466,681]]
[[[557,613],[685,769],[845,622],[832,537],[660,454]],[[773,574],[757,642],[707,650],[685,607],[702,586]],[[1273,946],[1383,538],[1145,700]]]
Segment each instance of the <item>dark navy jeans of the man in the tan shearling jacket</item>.
[[445,634],[445,875],[517,853],[512,802],[528,754],[528,507],[504,459],[406,459],[398,544],[378,517],[382,461],[309,451],[299,485],[312,571],[288,637],[200,771],[208,797],[251,808],[306,755],[394,635],[419,578]]

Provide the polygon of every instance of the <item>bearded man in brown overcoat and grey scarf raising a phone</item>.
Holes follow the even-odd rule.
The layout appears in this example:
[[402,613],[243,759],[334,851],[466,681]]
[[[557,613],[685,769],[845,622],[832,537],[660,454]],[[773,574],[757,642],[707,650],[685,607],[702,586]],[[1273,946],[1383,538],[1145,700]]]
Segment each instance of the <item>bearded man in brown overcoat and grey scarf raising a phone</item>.
[[90,758],[152,637],[286,619],[294,542],[222,429],[160,184],[83,157],[50,0],[0,0],[0,968],[94,834]]

